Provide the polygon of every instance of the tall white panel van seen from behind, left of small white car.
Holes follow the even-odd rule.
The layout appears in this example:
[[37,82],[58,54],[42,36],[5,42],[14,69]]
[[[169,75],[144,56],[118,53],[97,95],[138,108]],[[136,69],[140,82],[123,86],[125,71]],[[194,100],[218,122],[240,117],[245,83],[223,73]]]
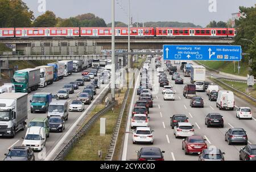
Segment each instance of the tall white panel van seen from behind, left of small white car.
[[219,91],[216,107],[234,110],[234,93],[232,91]]

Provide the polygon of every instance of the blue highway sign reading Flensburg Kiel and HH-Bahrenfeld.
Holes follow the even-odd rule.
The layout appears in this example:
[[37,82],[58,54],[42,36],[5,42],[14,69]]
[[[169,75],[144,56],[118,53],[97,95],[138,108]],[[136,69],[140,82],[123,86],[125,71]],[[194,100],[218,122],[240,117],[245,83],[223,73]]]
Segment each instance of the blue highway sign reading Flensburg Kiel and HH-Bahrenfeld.
[[174,61],[241,61],[241,46],[164,45],[163,59]]

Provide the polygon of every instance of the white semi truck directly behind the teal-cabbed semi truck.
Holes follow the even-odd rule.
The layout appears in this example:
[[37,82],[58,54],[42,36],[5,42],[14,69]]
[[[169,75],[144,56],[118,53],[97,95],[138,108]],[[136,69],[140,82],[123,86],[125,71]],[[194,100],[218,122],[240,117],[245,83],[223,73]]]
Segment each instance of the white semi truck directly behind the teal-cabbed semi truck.
[[38,66],[40,69],[40,84],[39,87],[46,87],[53,83],[53,66]]

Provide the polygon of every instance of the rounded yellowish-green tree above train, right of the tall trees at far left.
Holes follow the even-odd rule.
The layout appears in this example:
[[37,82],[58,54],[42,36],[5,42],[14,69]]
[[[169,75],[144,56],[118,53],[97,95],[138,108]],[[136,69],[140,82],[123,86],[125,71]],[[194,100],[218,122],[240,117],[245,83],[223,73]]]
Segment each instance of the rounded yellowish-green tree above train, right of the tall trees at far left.
[[52,11],[46,11],[34,20],[34,27],[55,27],[57,23],[56,15]]

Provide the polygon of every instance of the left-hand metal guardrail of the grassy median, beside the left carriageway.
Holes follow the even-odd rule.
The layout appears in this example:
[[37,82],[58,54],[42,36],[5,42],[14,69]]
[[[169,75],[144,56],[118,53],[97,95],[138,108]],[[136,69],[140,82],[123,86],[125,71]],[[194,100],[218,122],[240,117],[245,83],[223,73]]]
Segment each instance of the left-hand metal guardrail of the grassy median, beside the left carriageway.
[[80,138],[82,136],[84,136],[90,130],[90,128],[93,126],[93,124],[97,121],[97,119],[101,115],[105,114],[110,109],[112,109],[115,104],[116,104],[116,102],[114,101],[109,106],[105,107],[104,109],[102,109],[101,111],[99,111],[98,113],[93,115],[93,117],[90,118],[89,121],[87,123],[85,123],[84,126],[77,132],[77,134],[75,136],[73,136],[71,140],[69,140],[68,144],[65,145],[65,147],[55,157],[55,159],[53,161],[63,161],[65,156],[67,156],[69,151],[71,151],[72,147],[77,143],[77,141],[80,140]]

